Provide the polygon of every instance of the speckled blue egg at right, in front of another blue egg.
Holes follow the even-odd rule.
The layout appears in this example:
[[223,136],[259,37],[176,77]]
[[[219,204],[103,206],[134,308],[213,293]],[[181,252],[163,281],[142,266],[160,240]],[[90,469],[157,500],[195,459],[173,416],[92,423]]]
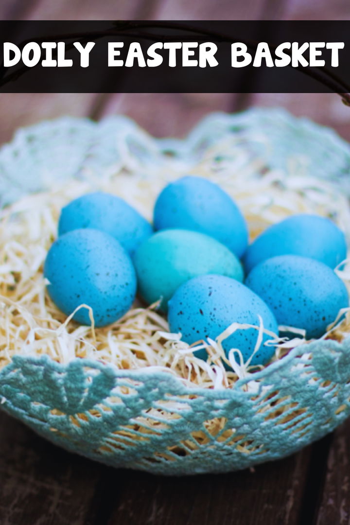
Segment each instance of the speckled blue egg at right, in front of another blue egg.
[[304,328],[318,338],[349,304],[343,281],[323,262],[298,255],[280,255],[260,262],[246,285],[261,297],[278,323]]

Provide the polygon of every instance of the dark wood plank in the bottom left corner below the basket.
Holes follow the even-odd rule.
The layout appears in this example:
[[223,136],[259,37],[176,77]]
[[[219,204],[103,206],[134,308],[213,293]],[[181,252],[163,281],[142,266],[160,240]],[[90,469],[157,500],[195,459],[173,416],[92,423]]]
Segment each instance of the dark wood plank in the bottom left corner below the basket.
[[2,525],[93,523],[99,510],[96,487],[108,470],[51,445],[0,413]]

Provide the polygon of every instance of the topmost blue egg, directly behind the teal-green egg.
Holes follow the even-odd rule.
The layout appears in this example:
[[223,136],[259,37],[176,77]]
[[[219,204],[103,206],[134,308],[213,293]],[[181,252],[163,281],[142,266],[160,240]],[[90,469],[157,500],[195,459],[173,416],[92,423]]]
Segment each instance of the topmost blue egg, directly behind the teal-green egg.
[[246,220],[232,198],[201,177],[168,184],[154,207],[154,228],[183,228],[214,237],[241,257],[248,244]]

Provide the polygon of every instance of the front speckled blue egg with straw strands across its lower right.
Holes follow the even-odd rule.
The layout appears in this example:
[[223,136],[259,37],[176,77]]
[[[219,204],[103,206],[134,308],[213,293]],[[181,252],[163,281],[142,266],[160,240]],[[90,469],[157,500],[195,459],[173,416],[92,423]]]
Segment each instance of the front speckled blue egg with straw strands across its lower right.
[[[233,322],[248,323],[259,327],[261,316],[263,326],[278,333],[278,325],[268,306],[249,288],[235,279],[220,275],[195,277],[179,287],[168,303],[168,322],[170,331],[181,332],[182,340],[192,344],[207,338],[215,340]],[[254,351],[258,330],[238,329],[222,341],[228,354],[232,348],[242,352],[247,361]],[[251,364],[264,364],[274,354],[274,346],[264,343],[273,339],[264,334],[260,348],[254,354]],[[205,349],[197,350],[195,355],[207,359]],[[237,361],[237,354],[236,354]]]

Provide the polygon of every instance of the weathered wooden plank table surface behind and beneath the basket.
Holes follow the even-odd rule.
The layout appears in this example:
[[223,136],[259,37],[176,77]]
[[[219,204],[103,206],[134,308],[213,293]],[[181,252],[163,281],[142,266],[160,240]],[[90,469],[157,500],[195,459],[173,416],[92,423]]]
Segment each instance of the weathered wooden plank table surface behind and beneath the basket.
[[[176,4],[176,5],[175,5]],[[347,0],[2,0],[2,19],[347,19]],[[225,90],[224,87],[222,89]],[[5,94],[0,142],[61,114],[125,113],[157,136],[181,136],[206,113],[283,106],[350,140],[350,110],[336,95]],[[287,459],[255,471],[161,478],[71,455],[0,414],[1,525],[337,525],[350,521],[350,422]]]

